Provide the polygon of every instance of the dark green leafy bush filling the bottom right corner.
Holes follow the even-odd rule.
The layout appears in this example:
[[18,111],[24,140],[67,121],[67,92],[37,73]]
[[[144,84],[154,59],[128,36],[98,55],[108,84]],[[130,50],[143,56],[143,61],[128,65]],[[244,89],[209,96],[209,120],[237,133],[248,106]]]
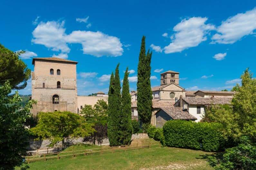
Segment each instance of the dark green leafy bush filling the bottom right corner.
[[222,160],[217,161],[215,157],[207,157],[208,164],[216,170],[255,169],[256,147],[251,145],[246,136],[240,138],[239,143],[236,147],[226,149]]

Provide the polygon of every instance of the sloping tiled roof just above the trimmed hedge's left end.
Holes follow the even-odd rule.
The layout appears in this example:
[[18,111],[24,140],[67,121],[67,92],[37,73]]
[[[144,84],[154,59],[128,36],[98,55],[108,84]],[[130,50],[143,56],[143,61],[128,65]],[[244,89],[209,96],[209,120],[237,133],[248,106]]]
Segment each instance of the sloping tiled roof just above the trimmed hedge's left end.
[[[161,107],[161,109],[166,114],[170,115],[173,119],[197,120],[196,117],[189,114],[187,111],[184,111],[181,107],[174,107],[174,106],[172,106],[172,107]],[[157,112],[159,112],[159,111],[157,111]],[[156,112],[156,114],[157,114],[157,112]]]

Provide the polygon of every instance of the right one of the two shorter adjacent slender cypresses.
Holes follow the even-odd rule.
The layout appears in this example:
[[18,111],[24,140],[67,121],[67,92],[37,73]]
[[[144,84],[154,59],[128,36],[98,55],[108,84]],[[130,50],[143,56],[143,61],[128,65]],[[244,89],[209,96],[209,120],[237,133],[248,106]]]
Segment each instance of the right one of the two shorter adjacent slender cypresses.
[[129,93],[128,67],[126,68],[122,89],[122,112],[120,115],[120,143],[128,145],[132,136],[132,119],[131,119],[131,96]]

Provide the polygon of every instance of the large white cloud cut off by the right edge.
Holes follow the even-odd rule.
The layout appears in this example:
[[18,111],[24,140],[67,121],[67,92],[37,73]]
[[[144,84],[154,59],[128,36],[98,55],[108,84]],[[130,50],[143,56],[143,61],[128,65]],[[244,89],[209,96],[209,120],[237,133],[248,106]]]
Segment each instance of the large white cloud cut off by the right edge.
[[217,28],[218,33],[212,37],[213,43],[232,44],[246,35],[254,34],[255,21],[256,8],[229,17],[226,21],[222,21],[222,24]]

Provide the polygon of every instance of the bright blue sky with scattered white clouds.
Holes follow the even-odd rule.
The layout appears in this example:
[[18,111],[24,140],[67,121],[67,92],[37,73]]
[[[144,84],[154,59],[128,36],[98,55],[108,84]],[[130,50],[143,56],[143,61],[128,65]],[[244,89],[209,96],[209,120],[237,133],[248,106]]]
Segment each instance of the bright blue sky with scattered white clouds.
[[[151,85],[160,72],[180,72],[187,90],[231,89],[256,72],[256,1],[5,1],[0,43],[33,71],[32,57],[78,61],[78,95],[108,91],[109,75],[126,67],[136,89],[141,38],[153,51]],[[254,76],[255,77],[255,76]],[[31,94],[31,81],[20,94]]]

